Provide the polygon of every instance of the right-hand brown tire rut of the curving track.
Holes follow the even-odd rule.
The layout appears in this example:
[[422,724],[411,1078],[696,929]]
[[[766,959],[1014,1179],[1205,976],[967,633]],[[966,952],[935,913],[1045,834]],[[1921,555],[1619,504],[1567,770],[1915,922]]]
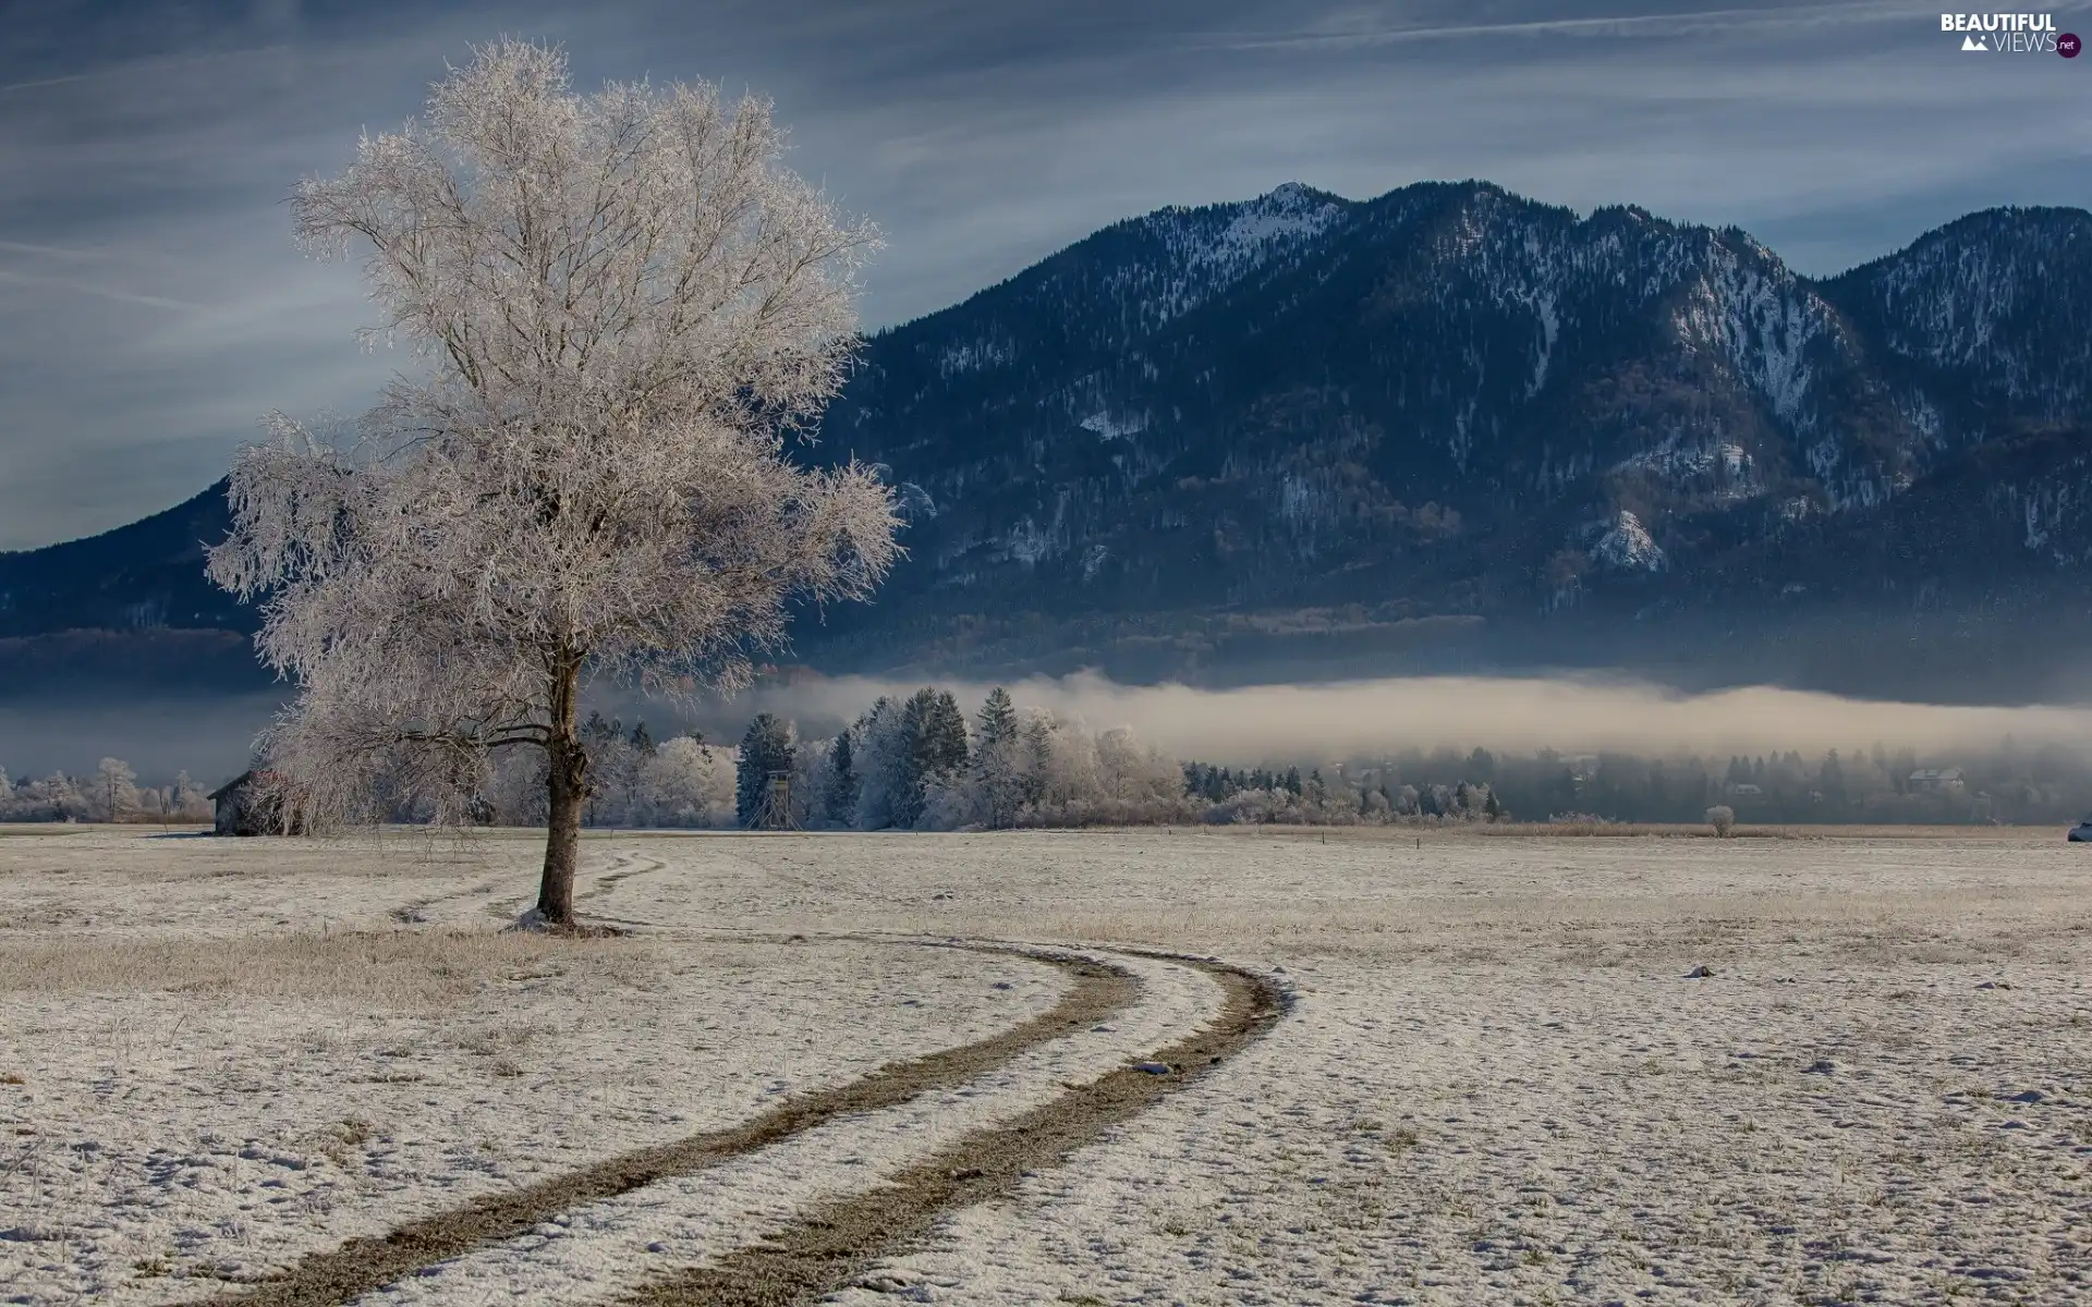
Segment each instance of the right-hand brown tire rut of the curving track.
[[822,1202],[759,1244],[657,1280],[619,1303],[632,1307],[787,1307],[847,1288],[874,1261],[929,1234],[935,1221],[1017,1188],[1027,1171],[1056,1167],[1220,1067],[1268,1031],[1287,995],[1268,979],[1213,960],[1174,958],[1226,991],[1222,1016],[1157,1050],[1167,1075],[1123,1067],[1004,1125],[973,1131],[910,1165],[887,1186]]

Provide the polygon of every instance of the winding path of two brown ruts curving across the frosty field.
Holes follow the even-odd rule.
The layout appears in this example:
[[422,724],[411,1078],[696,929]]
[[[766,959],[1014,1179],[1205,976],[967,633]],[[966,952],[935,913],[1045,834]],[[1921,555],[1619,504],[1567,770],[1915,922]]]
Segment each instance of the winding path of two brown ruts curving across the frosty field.
[[[611,872],[598,880],[594,895],[613,889],[626,876],[655,872],[663,866],[657,859],[646,859],[653,866],[634,866],[634,857],[623,857],[613,864]],[[621,924],[646,928],[644,922]],[[649,933],[653,931],[686,933],[667,926],[653,926]],[[868,1117],[904,1104],[927,1113],[931,1108],[918,1102],[925,1096],[990,1094],[981,1083],[983,1077],[1010,1067],[1023,1054],[1033,1054],[1036,1060],[1056,1041],[1071,1050],[1088,1048],[1086,1056],[1094,1062],[1096,1031],[1115,1029],[1107,1023],[1140,1004],[1146,989],[1142,970],[1153,974],[1161,964],[1169,968],[1190,966],[1220,985],[1224,995],[1220,1014],[1195,1025],[1195,1029],[1184,1029],[1192,1023],[1178,1012],[1172,1029],[1178,1037],[1149,1048],[1140,1060],[1146,1069],[1113,1058],[1115,1069],[1100,1077],[1079,1083],[1061,1079],[1061,1094],[1044,1102],[1021,1102],[1000,1119],[967,1129],[956,1142],[906,1163],[874,1188],[831,1192],[799,1205],[759,1242],[741,1242],[720,1253],[699,1251],[697,1255],[703,1259],[697,1265],[638,1280],[626,1278],[617,1299],[646,1305],[812,1303],[847,1286],[872,1261],[918,1240],[939,1217],[1010,1192],[1027,1171],[1061,1165],[1069,1152],[1096,1142],[1109,1127],[1130,1121],[1165,1096],[1197,1083],[1261,1035],[1287,1004],[1284,993],[1268,979],[1218,960],[964,939],[929,941],[879,935],[816,935],[812,939],[795,935],[793,939],[1004,954],[1056,966],[1073,983],[1052,1010],[987,1039],[891,1062],[856,1081],[793,1096],[726,1129],[611,1156],[519,1190],[490,1194],[452,1211],[408,1221],[383,1236],[347,1240],[337,1248],[308,1255],[264,1284],[234,1294],[199,1299],[192,1301],[192,1307],[322,1307],[354,1303],[366,1294],[385,1303],[450,1301],[454,1288],[464,1288],[456,1274],[467,1271],[469,1263],[500,1259],[504,1248],[513,1251],[517,1240],[527,1242],[533,1232],[548,1223],[565,1223],[573,1217],[615,1209],[617,1202],[630,1205],[665,1194],[676,1182],[724,1163],[761,1165],[764,1156],[757,1154],[768,1154],[768,1150],[843,1117]],[[1090,1039],[1090,1046],[1084,1046],[1084,1039]],[[1075,1062],[1079,1064],[1082,1058]],[[929,1121],[937,1121],[941,1115],[935,1113]],[[952,1115],[964,1121],[977,1119],[981,1113]],[[918,1125],[920,1121],[914,1125],[902,1121],[889,1129],[916,1129],[916,1138],[920,1138]],[[709,1196],[720,1200],[726,1192],[711,1190]],[[655,1205],[646,1207],[651,1211]],[[672,1211],[672,1202],[661,1211]],[[630,1223],[632,1213],[626,1211],[619,1219]],[[615,1236],[628,1238],[628,1232],[617,1230]],[[605,1240],[598,1238],[598,1242]],[[550,1271],[550,1267],[544,1269]],[[508,1276],[519,1290],[538,1286],[536,1263],[527,1259],[517,1263],[510,1257],[500,1274]],[[559,1274],[546,1278],[561,1280]],[[565,1284],[544,1284],[544,1288],[556,1301],[575,1301],[573,1292],[590,1282],[592,1276],[582,1271],[569,1276]],[[554,1288],[556,1292],[552,1292]]]

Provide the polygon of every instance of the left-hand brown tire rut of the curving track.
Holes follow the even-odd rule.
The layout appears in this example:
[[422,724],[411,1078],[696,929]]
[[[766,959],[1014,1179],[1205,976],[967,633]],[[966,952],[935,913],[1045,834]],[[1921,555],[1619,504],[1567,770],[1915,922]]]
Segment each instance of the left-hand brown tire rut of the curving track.
[[1071,974],[1073,987],[1048,1012],[987,1039],[891,1062],[833,1090],[793,1096],[741,1125],[638,1148],[521,1190],[487,1194],[464,1207],[408,1221],[383,1236],[347,1240],[339,1248],[303,1257],[285,1274],[251,1290],[195,1299],[192,1307],[331,1307],[349,1303],[437,1261],[527,1234],[540,1221],[567,1209],[703,1171],[837,1117],[897,1106],[933,1090],[960,1087],[1029,1048],[1109,1021],[1130,1008],[1140,993],[1140,981],[1130,970],[1052,949],[987,943],[918,943],[916,947],[962,947],[1046,962]]

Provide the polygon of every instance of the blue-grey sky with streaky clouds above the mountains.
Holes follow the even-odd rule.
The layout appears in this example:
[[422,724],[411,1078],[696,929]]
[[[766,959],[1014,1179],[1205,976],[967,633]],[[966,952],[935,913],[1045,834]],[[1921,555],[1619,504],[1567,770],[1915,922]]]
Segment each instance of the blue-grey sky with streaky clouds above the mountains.
[[[2056,6],[2092,36],[2092,0]],[[1483,178],[1743,226],[1833,274],[1992,205],[2092,205],[2092,56],[1966,54],[1908,2],[0,0],[0,550],[224,473],[257,420],[364,408],[354,263],[285,197],[496,36],[575,84],[755,90],[887,247],[866,326],[1119,217],[1308,182]]]

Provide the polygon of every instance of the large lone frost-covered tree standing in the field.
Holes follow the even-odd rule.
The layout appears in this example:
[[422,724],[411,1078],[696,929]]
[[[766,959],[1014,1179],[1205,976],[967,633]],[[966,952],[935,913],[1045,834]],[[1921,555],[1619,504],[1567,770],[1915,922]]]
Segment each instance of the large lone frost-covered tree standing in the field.
[[841,383],[872,230],[782,146],[759,100],[584,96],[561,52],[502,42],[297,186],[299,238],[360,251],[374,335],[427,362],[349,429],[274,418],[211,554],[299,684],[268,751],[314,816],[462,822],[492,751],[542,751],[538,910],[567,924],[584,686],[743,684],[789,598],[887,571],[879,479],[787,450]]

